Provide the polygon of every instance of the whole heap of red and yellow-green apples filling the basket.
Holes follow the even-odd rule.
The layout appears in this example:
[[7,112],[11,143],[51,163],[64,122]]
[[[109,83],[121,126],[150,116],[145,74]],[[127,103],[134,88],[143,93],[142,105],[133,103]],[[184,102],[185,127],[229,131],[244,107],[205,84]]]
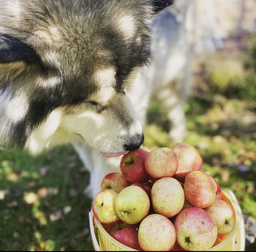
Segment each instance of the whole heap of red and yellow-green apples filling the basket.
[[102,180],[93,214],[114,239],[139,251],[207,250],[230,234],[236,218],[202,164],[183,143],[130,151],[121,173]]

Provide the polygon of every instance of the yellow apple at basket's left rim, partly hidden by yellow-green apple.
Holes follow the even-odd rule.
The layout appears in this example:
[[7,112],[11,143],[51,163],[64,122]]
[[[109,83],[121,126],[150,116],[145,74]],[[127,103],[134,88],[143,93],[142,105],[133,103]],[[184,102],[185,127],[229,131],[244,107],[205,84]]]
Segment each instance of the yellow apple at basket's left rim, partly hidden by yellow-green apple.
[[93,201],[93,214],[95,218],[104,224],[109,224],[118,220],[115,210],[117,191],[104,189],[100,191]]

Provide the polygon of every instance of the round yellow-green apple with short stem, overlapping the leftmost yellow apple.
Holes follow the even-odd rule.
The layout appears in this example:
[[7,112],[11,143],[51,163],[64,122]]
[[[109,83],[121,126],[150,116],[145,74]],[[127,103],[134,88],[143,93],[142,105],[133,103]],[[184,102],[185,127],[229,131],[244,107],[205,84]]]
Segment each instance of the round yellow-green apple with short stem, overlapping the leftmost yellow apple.
[[150,200],[139,186],[128,186],[116,197],[116,214],[127,224],[137,224],[148,214]]

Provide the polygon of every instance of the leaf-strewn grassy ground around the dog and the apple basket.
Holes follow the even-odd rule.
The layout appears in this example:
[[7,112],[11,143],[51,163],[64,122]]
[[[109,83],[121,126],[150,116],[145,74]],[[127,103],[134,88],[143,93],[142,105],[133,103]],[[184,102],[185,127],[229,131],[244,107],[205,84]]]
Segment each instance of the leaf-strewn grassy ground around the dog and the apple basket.
[[[228,59],[228,60],[227,60]],[[191,97],[185,107],[185,143],[203,157],[203,171],[236,195],[242,212],[256,218],[256,77],[246,55],[204,55],[194,59]],[[223,69],[225,71],[223,72]],[[248,70],[249,69],[249,70]],[[165,111],[151,102],[143,148],[172,147]],[[83,194],[89,173],[71,146],[29,156],[0,150],[0,250],[90,251]],[[247,244],[246,250],[254,250]]]

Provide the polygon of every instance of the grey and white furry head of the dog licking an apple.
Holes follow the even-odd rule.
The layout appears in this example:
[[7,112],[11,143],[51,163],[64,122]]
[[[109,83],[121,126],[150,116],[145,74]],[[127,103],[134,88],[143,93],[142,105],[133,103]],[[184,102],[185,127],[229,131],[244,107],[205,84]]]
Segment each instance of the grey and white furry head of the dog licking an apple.
[[172,2],[0,0],[0,146],[139,148],[129,89],[150,57],[151,19]]

